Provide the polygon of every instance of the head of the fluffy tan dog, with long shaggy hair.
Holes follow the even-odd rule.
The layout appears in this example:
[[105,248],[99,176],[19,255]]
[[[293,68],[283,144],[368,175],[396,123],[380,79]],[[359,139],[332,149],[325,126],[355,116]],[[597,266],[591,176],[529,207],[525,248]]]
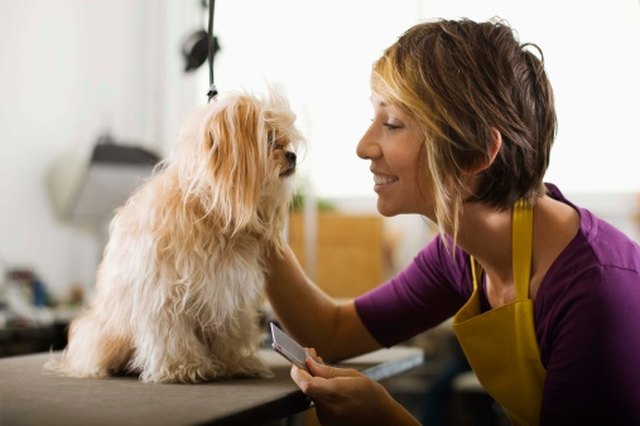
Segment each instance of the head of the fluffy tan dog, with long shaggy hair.
[[172,156],[185,200],[197,199],[231,233],[280,232],[301,140],[295,118],[275,92],[219,95],[202,107]]

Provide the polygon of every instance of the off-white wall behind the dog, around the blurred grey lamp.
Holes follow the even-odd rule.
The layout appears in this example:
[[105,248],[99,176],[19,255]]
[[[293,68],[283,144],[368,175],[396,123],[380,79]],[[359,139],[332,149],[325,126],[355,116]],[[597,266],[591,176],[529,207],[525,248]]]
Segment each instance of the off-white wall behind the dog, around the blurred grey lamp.
[[0,1],[0,259],[54,296],[93,284],[101,246],[54,217],[47,170],[105,130],[166,150],[198,101],[177,53],[199,13],[178,0]]

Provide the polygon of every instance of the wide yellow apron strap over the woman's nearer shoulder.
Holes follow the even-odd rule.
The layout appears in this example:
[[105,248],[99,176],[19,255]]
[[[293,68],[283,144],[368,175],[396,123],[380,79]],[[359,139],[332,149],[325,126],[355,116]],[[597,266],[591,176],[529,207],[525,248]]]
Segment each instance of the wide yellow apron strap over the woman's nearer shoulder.
[[533,207],[524,199],[513,206],[511,223],[513,281],[516,300],[529,298],[531,280],[531,244],[533,240]]

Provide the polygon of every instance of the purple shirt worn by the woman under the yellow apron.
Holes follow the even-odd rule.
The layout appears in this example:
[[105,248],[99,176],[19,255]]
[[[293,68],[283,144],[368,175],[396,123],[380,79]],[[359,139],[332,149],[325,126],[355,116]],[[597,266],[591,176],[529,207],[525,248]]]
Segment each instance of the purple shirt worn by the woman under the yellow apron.
[[[586,209],[580,230],[551,265],[534,301],[547,371],[541,424],[640,424],[640,246]],[[384,346],[453,316],[472,292],[469,256],[436,237],[356,308]],[[486,302],[482,285],[482,297]]]

